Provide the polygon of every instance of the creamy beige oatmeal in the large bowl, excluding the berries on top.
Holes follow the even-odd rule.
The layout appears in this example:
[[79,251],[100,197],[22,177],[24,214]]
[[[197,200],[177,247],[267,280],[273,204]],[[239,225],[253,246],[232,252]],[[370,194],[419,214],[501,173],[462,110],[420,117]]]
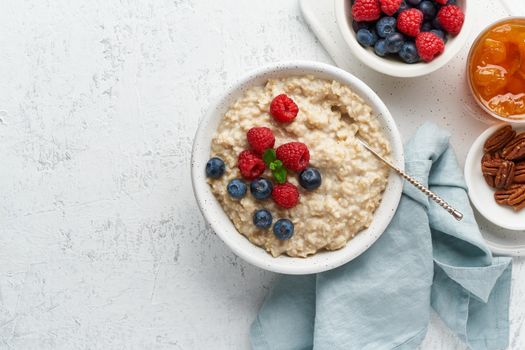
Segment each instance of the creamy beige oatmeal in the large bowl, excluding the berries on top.
[[[277,122],[270,114],[272,100],[281,94],[298,106],[293,122]],[[306,145],[309,166],[322,176],[318,188],[307,190],[299,184],[298,173],[288,171],[286,181],[299,193],[292,208],[272,198],[256,199],[250,180],[242,179],[238,157],[250,149],[247,132],[257,127],[273,132],[275,148],[290,142]],[[349,87],[313,76],[271,79],[248,89],[225,113],[211,145],[211,155],[223,160],[223,168],[220,177],[208,182],[237,230],[273,256],[307,257],[340,249],[370,225],[387,185],[388,169],[356,143],[357,133],[382,155],[390,153],[374,111]],[[275,181],[269,168],[261,176]],[[240,189],[245,191],[242,197],[232,197],[227,189],[232,179],[246,184]],[[254,212],[261,209],[271,213],[274,223],[290,220],[293,235],[279,239],[271,228],[255,226]]]

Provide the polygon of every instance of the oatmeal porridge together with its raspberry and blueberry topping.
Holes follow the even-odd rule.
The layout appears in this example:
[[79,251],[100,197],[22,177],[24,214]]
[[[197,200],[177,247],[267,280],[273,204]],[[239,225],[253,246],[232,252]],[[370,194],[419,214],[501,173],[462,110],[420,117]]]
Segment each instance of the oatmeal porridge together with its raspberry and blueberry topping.
[[[261,128],[274,136],[272,147],[259,142],[266,136],[248,136]],[[388,178],[388,168],[357,144],[357,132],[388,156],[379,120],[349,87],[313,76],[270,79],[224,114],[211,153],[225,172],[208,183],[237,231],[273,256],[340,249],[370,225]],[[232,197],[225,191],[232,179],[251,195]]]

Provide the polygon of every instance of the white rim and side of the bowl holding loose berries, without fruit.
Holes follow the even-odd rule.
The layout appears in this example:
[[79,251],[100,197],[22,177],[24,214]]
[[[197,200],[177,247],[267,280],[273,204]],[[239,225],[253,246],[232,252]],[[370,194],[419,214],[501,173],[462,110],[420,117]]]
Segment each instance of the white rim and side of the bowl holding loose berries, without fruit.
[[362,47],[357,42],[355,32],[352,29],[352,9],[350,0],[334,0],[334,6],[339,31],[343,35],[345,42],[354,56],[373,70],[400,78],[419,77],[430,74],[443,67],[448,61],[457,55],[459,50],[461,50],[467,42],[474,20],[470,7],[467,6],[467,0],[458,0],[458,6],[460,6],[465,12],[465,22],[463,23],[461,32],[455,37],[449,36],[448,41],[445,44],[445,51],[433,61],[428,63],[419,62],[407,64],[392,58],[379,57],[372,49]]

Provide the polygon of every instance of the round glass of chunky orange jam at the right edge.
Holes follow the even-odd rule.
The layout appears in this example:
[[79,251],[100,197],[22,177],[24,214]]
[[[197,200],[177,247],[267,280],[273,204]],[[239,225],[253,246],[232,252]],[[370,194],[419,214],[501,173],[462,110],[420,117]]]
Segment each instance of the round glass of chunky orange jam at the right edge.
[[525,119],[525,19],[494,24],[474,43],[468,64],[474,96],[496,115]]

